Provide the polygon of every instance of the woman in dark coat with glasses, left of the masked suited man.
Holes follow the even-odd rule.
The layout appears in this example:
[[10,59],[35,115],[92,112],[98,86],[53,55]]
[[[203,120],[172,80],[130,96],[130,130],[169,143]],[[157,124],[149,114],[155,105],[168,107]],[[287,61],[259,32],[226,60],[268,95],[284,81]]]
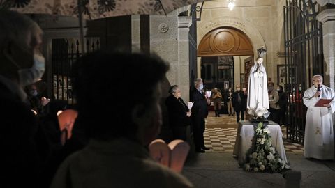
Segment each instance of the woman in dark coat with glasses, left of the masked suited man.
[[187,127],[191,125],[191,111],[181,99],[181,92],[177,85],[171,86],[169,93],[170,96],[165,100],[165,105],[168,107],[173,139],[187,141]]

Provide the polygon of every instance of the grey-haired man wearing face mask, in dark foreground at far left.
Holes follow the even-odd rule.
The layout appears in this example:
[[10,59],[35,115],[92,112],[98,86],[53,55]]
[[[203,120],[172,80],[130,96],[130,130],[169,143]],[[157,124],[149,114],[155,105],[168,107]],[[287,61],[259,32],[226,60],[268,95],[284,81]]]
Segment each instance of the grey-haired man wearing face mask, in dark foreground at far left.
[[22,88],[43,75],[41,43],[42,30],[29,17],[0,10],[0,187],[36,187],[38,182],[38,125]]

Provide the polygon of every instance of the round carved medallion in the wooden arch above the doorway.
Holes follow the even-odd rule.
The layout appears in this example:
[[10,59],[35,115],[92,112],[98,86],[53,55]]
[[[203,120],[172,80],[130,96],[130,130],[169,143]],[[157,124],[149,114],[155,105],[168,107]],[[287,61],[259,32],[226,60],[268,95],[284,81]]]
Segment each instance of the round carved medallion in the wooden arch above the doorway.
[[235,44],[232,33],[223,31],[214,36],[214,47],[220,52],[229,52]]

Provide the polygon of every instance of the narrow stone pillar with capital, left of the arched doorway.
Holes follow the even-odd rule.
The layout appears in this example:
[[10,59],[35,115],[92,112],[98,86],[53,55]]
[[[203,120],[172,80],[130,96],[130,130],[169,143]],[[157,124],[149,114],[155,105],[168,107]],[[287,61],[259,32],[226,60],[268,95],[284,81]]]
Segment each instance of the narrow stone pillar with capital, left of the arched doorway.
[[192,17],[178,17],[178,75],[179,88],[183,91],[184,100],[188,101],[190,91],[190,53],[188,31],[192,24]]

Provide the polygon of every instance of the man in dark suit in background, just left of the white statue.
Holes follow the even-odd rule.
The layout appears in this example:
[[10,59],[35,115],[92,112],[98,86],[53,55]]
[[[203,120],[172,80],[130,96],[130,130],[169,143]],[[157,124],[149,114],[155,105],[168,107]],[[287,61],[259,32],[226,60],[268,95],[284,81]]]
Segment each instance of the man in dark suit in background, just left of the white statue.
[[241,120],[244,120],[244,111],[246,111],[246,98],[244,97],[241,87],[236,85],[236,92],[232,94],[232,107],[236,111],[236,122],[239,123],[239,114],[241,113]]

